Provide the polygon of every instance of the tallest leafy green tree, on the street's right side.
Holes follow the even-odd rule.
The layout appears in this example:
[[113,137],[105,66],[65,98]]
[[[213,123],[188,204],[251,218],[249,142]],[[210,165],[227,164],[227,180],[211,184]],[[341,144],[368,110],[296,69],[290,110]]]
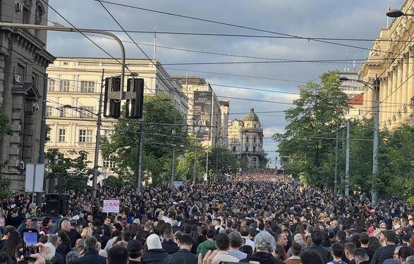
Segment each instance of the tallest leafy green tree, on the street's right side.
[[347,96],[339,85],[338,73],[329,72],[320,77],[320,83],[301,86],[299,99],[286,111],[286,132],[273,136],[281,156],[291,158],[286,171],[305,177],[313,186],[334,182],[335,141],[330,138],[348,112]]

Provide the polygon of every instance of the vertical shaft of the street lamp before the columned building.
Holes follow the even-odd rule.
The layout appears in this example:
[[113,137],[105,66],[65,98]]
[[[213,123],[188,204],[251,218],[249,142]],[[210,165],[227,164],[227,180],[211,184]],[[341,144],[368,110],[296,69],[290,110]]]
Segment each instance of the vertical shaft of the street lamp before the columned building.
[[374,142],[372,144],[372,205],[377,206],[378,192],[374,187],[374,178],[377,176],[377,172],[378,172],[379,77],[375,77],[374,96],[375,96],[375,100],[374,100],[375,106],[374,106]]

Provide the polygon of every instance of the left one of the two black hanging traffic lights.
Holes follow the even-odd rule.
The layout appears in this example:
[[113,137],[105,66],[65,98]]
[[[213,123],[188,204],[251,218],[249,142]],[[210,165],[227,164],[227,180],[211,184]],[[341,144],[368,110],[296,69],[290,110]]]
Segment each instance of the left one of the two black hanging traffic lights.
[[111,99],[111,94],[121,91],[121,77],[107,77],[105,79],[104,117],[119,118],[121,116],[121,100]]

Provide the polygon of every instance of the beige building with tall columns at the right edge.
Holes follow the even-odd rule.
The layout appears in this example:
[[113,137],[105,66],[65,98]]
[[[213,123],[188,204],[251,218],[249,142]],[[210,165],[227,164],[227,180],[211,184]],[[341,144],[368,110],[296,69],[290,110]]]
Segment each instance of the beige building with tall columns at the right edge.
[[[414,0],[401,8],[414,13]],[[395,18],[388,28],[380,30],[359,75],[365,82],[379,77],[379,128],[394,128],[413,121],[414,100],[414,20]],[[367,89],[364,95],[365,116],[373,113],[375,93]]]

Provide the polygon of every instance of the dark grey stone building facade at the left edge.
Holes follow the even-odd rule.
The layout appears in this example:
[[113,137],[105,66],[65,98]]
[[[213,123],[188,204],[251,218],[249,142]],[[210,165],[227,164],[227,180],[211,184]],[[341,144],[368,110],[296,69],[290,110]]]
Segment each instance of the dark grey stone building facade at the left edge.
[[[42,1],[0,1],[1,22],[47,25]],[[20,8],[21,7],[21,8]],[[11,134],[0,140],[1,179],[24,189],[25,164],[39,158],[40,124],[46,68],[54,61],[46,51],[44,30],[0,29],[0,106],[11,120]]]

